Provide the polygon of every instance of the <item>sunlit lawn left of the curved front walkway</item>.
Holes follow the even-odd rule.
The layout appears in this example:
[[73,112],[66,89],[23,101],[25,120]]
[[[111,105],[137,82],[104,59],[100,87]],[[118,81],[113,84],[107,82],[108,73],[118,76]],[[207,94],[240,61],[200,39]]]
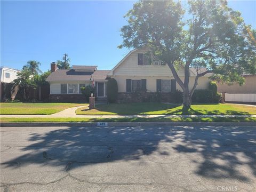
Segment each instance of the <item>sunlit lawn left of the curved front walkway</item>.
[[86,105],[85,103],[33,103],[2,102],[1,115],[50,115],[70,107]]

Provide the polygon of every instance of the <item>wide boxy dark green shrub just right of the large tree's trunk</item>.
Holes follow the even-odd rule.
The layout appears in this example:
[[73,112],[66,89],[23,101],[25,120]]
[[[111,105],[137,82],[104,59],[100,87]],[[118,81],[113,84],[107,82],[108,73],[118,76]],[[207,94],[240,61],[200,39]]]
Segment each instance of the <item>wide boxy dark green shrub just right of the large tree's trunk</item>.
[[212,90],[195,90],[192,95],[192,102],[211,103],[213,102]]

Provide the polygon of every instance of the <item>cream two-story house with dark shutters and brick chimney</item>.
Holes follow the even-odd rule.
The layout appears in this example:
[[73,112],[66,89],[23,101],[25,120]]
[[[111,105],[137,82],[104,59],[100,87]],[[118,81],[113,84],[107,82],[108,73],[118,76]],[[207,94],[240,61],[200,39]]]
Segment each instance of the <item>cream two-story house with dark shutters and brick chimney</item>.
[[[121,102],[132,101],[129,95],[138,92],[150,95],[157,92],[168,94],[176,90],[182,91],[176,83],[171,69],[162,61],[154,60],[154,58],[148,59],[149,56],[146,53],[145,49],[132,50],[111,70],[98,70],[97,66],[73,66],[72,69],[57,69],[57,65],[51,63],[52,73],[46,79],[51,84],[50,99],[53,101],[83,99],[80,87],[89,84],[95,86],[95,97],[106,98],[108,78],[116,79],[118,98]],[[178,74],[183,79],[184,70],[180,68]],[[195,69],[191,68],[190,88],[194,84],[195,77]],[[209,75],[199,78],[197,89],[208,89],[210,81],[208,77]]]

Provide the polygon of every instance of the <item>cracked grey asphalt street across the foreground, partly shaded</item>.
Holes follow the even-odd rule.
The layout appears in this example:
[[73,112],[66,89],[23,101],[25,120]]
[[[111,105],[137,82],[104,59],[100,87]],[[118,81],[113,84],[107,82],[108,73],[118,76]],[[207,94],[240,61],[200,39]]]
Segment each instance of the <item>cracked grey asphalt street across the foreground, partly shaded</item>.
[[1,127],[1,191],[255,191],[256,128]]

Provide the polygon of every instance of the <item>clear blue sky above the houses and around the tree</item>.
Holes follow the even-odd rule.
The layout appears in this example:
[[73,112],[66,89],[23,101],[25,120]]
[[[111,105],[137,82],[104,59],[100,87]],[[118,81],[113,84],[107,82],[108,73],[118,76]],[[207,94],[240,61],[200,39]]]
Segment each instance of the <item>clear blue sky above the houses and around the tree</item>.
[[[126,54],[120,28],[134,1],[1,1],[1,66],[21,69],[29,60],[41,70],[67,53],[71,65],[113,68]],[[256,1],[229,1],[256,28]]]

